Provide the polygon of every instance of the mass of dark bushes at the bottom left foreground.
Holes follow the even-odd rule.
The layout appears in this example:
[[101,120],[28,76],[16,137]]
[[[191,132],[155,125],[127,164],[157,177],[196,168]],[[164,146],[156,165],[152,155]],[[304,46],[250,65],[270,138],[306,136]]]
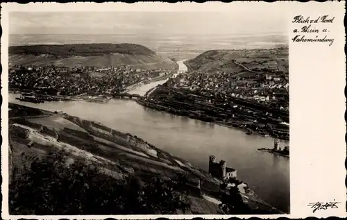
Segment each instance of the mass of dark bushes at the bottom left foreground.
[[120,181],[102,169],[64,151],[35,159],[26,174],[11,181],[10,214],[173,214],[179,208],[174,186],[161,178],[147,184],[138,176]]

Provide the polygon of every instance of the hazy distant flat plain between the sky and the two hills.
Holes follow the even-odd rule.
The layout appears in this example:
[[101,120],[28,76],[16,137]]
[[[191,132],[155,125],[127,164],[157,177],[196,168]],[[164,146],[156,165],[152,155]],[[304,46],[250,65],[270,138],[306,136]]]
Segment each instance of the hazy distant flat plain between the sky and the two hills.
[[140,44],[155,51],[162,58],[175,60],[193,59],[209,50],[220,49],[271,49],[287,46],[288,37],[282,33],[259,35],[59,35],[31,34],[10,35],[9,45],[62,45],[122,43]]

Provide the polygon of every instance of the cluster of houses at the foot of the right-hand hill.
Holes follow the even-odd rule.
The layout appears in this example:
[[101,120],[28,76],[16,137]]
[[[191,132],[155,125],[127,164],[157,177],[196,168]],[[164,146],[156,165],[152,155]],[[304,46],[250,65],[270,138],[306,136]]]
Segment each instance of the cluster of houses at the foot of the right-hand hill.
[[289,110],[289,83],[285,74],[264,74],[253,77],[233,77],[226,72],[209,74],[205,72],[191,72],[180,74],[174,78],[174,86],[212,94],[220,99],[236,97],[248,99],[271,108]]

